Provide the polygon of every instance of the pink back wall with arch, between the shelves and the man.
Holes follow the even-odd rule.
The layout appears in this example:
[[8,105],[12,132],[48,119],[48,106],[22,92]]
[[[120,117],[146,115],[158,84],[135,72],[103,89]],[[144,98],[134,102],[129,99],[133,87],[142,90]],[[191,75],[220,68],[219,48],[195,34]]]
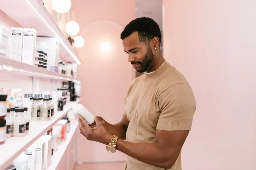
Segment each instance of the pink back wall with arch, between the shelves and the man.
[[[124,97],[135,71],[124,53],[120,33],[135,18],[135,0],[72,1],[76,21],[80,24],[78,35],[85,40],[78,50],[81,65],[78,78],[81,81],[81,103],[93,114],[110,123],[121,120]],[[110,52],[100,51],[100,43],[108,41]],[[78,137],[78,162],[124,161],[121,152],[108,153],[105,146]]]

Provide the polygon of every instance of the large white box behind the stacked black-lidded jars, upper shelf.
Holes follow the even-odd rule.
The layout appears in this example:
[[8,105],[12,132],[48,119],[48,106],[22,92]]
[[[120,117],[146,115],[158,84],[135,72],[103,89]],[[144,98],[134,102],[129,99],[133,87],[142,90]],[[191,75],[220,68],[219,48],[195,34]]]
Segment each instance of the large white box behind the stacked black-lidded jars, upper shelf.
[[36,37],[36,50],[47,54],[47,70],[58,72],[60,44],[57,38]]

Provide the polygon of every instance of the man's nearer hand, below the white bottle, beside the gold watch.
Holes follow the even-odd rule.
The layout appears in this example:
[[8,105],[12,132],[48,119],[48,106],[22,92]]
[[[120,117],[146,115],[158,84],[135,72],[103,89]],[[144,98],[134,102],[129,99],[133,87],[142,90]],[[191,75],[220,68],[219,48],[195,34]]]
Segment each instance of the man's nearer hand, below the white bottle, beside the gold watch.
[[100,142],[105,145],[108,145],[112,135],[108,132],[107,128],[103,123],[100,122],[98,116],[95,116],[95,127],[90,127],[89,124],[80,116],[79,118],[79,129],[80,133],[86,137],[87,140],[93,140],[95,142]]

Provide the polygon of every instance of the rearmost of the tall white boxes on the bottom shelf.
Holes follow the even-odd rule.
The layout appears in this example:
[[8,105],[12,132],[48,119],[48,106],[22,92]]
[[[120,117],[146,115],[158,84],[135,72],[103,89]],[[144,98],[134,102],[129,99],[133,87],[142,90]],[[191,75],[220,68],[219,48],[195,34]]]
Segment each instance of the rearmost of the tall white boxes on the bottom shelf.
[[44,169],[47,169],[51,163],[51,140],[52,136],[44,135],[38,140],[44,141]]

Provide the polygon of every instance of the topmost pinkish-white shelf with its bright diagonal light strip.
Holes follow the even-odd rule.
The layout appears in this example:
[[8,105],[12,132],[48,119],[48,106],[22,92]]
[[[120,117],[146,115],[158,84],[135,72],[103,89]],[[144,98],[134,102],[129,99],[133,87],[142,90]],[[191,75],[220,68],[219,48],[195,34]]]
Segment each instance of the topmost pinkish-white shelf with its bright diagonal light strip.
[[[35,28],[37,36],[59,39],[64,60],[81,64],[67,38],[39,0],[0,1],[0,9],[22,27]],[[11,25],[12,26],[12,25]]]

